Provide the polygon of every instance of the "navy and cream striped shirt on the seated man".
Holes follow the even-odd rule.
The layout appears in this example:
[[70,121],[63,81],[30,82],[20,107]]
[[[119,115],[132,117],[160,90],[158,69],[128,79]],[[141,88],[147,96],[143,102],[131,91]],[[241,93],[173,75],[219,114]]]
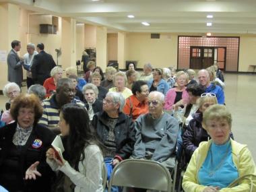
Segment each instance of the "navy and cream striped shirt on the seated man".
[[[71,102],[75,104],[79,104],[81,106],[84,106],[84,108],[86,108],[86,106],[84,105],[84,102],[80,100],[77,100],[74,98]],[[57,105],[56,94],[53,94],[51,98],[46,98],[45,100],[43,100],[42,107],[44,108],[44,110],[38,124],[44,127],[49,127],[49,128],[58,127],[60,108]]]

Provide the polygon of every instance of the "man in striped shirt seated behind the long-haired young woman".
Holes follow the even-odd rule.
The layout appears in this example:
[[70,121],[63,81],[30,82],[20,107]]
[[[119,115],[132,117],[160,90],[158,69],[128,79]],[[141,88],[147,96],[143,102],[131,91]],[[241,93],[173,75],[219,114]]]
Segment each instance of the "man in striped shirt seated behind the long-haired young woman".
[[44,125],[45,127],[49,127],[58,133],[59,110],[61,106],[69,102],[73,102],[85,107],[84,103],[80,100],[76,100],[74,96],[75,88],[73,88],[73,82],[71,79],[59,79],[56,86],[56,93],[53,94],[51,98],[47,98],[42,101],[42,107],[44,108],[44,111],[42,113],[39,124]]

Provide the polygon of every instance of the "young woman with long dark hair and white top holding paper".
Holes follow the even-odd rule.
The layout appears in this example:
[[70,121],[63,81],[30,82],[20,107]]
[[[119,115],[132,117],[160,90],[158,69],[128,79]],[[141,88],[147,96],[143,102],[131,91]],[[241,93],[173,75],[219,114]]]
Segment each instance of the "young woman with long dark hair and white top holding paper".
[[50,148],[47,162],[59,172],[57,191],[102,192],[103,157],[92,134],[86,108],[65,104],[61,108],[59,127],[63,135],[66,160],[61,162]]

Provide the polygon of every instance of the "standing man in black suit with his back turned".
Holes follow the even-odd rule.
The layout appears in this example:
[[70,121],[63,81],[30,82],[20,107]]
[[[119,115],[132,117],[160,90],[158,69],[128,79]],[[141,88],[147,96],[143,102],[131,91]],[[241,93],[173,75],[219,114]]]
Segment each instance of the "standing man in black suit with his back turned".
[[51,69],[56,66],[53,56],[44,51],[44,44],[39,43],[36,46],[38,55],[34,56],[31,67],[32,79],[35,84],[44,84],[44,80],[51,77]]

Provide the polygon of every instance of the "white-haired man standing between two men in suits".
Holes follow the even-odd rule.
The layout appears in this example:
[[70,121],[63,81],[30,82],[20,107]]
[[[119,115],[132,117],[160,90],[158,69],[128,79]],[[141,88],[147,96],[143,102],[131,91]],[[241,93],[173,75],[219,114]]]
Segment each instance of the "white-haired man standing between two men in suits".
[[27,72],[27,87],[30,88],[30,86],[32,86],[34,84],[33,79],[32,79],[32,73],[31,73],[31,65],[32,65],[32,61],[34,59],[34,56],[37,53],[37,51],[35,51],[36,47],[34,46],[33,43],[28,43],[27,44],[27,51],[28,53],[26,53],[23,57],[24,57],[24,69]]

